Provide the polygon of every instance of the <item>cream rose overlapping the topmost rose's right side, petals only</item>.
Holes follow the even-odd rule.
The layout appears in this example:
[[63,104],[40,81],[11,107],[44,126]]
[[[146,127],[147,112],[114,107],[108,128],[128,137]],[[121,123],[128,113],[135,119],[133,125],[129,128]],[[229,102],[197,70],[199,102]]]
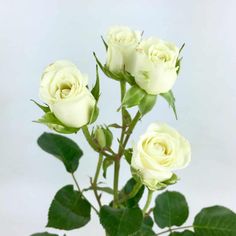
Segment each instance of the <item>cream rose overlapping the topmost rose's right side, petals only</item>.
[[148,94],[166,93],[173,87],[177,78],[178,55],[179,49],[174,44],[149,38],[139,44],[131,74]]

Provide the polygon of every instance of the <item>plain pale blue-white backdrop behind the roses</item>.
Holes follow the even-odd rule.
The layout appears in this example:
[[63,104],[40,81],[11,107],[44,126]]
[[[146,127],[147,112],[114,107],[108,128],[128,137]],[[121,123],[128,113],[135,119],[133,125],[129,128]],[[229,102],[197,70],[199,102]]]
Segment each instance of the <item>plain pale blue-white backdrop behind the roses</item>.
[[[235,9],[233,0],[1,0],[0,234],[27,236],[44,231],[54,194],[72,183],[63,165],[36,145],[37,137],[47,131],[31,122],[42,115],[30,102],[38,99],[42,70],[57,59],[69,59],[93,84],[92,52],[104,58],[100,35],[117,24],[179,46],[186,43],[181,75],[174,87],[179,120],[160,98],[133,139],[158,120],[173,125],[190,140],[191,165],[179,172],[181,181],[170,188],[186,195],[190,220],[208,205],[236,210]],[[98,123],[119,121],[115,112],[118,85],[102,77]],[[85,152],[77,173],[83,187],[94,172],[96,156],[81,134],[73,138]],[[129,176],[124,165],[121,183]],[[103,235],[96,217],[67,235],[94,234]]]

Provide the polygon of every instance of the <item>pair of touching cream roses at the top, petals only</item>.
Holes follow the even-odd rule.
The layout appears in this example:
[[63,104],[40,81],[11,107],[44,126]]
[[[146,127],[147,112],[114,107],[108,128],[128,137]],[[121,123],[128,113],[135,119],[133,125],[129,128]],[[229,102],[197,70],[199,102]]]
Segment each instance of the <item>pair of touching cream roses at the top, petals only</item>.
[[180,50],[158,38],[141,40],[141,32],[127,27],[112,28],[107,36],[107,63],[110,71],[123,69],[148,94],[168,92],[178,71]]

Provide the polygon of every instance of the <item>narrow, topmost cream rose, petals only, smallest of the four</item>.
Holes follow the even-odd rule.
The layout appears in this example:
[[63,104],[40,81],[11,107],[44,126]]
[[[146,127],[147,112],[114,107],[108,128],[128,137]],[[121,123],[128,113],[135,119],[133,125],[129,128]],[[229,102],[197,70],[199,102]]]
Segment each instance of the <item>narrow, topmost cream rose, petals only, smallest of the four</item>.
[[131,71],[135,63],[136,47],[141,39],[141,32],[133,31],[128,27],[112,27],[107,35],[106,65],[112,72],[125,68]]

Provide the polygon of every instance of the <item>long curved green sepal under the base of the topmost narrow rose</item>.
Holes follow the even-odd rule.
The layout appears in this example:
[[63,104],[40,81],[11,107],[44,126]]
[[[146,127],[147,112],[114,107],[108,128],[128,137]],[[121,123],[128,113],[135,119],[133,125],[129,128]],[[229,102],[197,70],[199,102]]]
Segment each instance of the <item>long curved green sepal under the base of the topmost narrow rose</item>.
[[109,70],[109,68],[106,65],[102,65],[102,63],[98,60],[97,56],[95,53],[93,53],[95,60],[98,64],[98,66],[100,67],[100,69],[103,71],[103,73],[111,78],[114,79],[116,81],[126,81],[127,83],[129,83],[130,85],[134,85],[135,84],[135,80],[134,77],[127,71],[123,70],[123,71],[119,71],[119,72],[112,72]]

